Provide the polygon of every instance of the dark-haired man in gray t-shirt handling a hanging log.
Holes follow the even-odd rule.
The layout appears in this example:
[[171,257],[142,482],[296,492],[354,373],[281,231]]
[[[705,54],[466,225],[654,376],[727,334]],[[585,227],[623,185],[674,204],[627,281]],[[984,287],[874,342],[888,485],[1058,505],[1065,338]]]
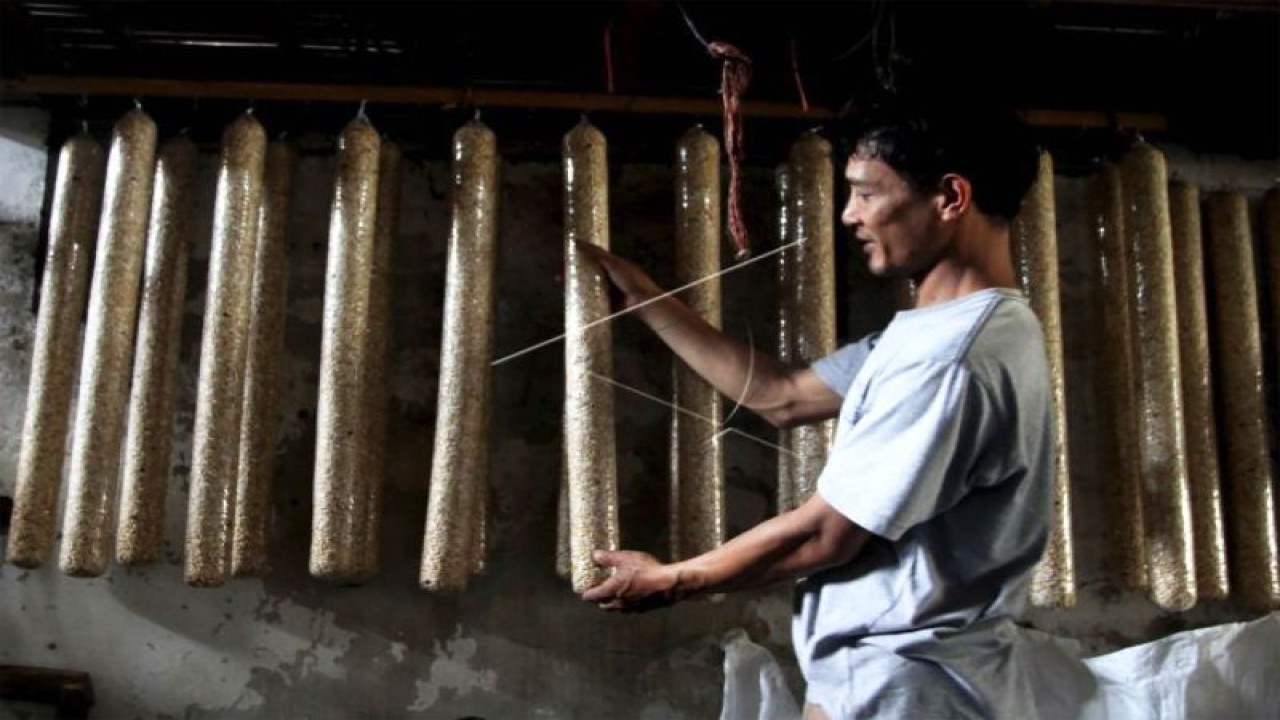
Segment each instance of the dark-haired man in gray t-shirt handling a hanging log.
[[[841,220],[914,309],[805,369],[756,355],[745,405],[787,427],[838,416],[817,492],[722,547],[662,564],[599,551],[582,594],[648,610],[788,579],[806,719],[1032,717],[1015,618],[1048,536],[1051,414],[1039,323],[1015,290],[1010,220],[1037,151],[1012,118],[897,113],[854,136]],[[634,264],[582,251],[635,305]],[[739,397],[750,350],[666,297],[635,313]]]

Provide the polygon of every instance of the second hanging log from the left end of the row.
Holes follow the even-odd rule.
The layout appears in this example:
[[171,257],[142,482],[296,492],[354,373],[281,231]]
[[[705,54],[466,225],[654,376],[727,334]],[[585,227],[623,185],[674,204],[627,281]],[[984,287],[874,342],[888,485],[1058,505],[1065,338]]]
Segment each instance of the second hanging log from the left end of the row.
[[131,110],[115,123],[106,160],[63,518],[59,565],[68,575],[101,575],[111,555],[115,484],[155,154],[156,126],[146,113]]

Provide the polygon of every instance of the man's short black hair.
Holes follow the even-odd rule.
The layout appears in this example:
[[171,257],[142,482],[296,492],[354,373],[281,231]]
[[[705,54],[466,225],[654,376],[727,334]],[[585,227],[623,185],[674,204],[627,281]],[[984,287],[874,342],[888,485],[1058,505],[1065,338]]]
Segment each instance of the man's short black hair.
[[973,202],[1010,220],[1036,181],[1039,149],[1012,111],[882,101],[846,120],[845,150],[882,160],[918,192],[938,188],[942,176],[968,178]]

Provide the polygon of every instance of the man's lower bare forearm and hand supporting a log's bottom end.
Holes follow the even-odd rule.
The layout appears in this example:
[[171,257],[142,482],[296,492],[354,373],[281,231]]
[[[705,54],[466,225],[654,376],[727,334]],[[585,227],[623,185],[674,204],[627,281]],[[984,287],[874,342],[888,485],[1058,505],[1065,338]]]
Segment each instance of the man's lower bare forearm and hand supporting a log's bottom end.
[[814,495],[800,507],[681,562],[664,565],[627,550],[596,551],[596,564],[613,568],[613,575],[582,593],[582,600],[605,610],[644,611],[698,594],[763,588],[844,565],[869,537]]

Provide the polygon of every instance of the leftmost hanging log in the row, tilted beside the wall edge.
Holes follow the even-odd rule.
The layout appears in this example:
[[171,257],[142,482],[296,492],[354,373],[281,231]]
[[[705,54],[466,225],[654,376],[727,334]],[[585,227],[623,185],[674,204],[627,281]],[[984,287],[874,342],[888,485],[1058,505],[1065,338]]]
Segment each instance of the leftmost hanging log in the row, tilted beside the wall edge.
[[102,206],[102,146],[87,133],[58,154],[49,251],[40,284],[31,387],[9,525],[9,562],[38,568],[49,560],[58,524],[67,425],[79,360],[79,327],[88,297],[93,234]]

